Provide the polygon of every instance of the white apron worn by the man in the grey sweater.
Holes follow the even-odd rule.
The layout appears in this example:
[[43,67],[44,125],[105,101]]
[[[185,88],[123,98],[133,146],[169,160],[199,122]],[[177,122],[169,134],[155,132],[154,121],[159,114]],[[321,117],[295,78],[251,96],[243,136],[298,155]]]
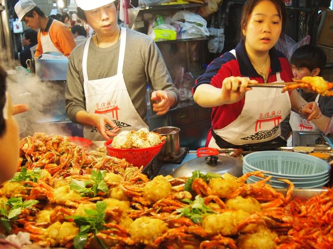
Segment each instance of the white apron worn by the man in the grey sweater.
[[[107,115],[121,130],[138,130],[148,125],[136,111],[122,74],[126,47],[126,29],[121,28],[120,49],[117,74],[109,78],[89,80],[87,73],[88,50],[91,37],[88,38],[82,58],[86,110],[89,113]],[[107,125],[107,129],[112,127]],[[105,140],[96,127],[85,126],[84,137],[92,141]]]

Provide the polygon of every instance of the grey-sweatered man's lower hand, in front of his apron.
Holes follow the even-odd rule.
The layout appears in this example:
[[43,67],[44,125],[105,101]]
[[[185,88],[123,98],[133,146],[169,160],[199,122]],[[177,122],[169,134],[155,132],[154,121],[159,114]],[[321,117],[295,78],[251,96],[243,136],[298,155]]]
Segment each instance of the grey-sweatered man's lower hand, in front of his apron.
[[[120,128],[113,123],[106,115],[103,114],[91,114],[93,122],[97,127],[99,133],[106,140],[110,140],[117,135],[120,131]],[[113,129],[109,129],[108,126],[111,126]]]

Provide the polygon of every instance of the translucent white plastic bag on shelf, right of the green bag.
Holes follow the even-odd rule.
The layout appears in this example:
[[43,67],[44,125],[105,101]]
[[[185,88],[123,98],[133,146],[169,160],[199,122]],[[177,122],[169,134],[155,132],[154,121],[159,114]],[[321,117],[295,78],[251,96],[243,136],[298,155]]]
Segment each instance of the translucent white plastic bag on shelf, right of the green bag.
[[181,26],[181,39],[209,36],[206,20],[197,13],[178,11],[172,19]]

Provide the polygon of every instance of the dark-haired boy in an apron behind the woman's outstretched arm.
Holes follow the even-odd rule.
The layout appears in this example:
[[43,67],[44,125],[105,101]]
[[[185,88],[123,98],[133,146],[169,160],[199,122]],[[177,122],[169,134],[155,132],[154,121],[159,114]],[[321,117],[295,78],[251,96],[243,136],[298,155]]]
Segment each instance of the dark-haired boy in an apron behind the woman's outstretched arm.
[[[290,64],[295,79],[302,79],[305,76],[320,76],[326,64],[326,54],[319,47],[307,44],[295,50],[290,58]],[[317,102],[322,116],[317,120],[306,121],[292,111],[290,118],[287,117],[281,123],[281,136],[283,138],[287,138],[292,130],[325,132],[330,117],[333,115],[333,98],[324,97],[305,89],[298,91],[306,101]],[[288,138],[287,146],[292,146],[292,136]]]

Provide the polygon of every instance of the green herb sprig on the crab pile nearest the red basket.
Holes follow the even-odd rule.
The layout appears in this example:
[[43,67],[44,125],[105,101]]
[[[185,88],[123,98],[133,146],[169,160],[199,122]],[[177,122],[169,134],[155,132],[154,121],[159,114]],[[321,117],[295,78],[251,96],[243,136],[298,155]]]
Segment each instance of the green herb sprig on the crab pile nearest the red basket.
[[105,176],[105,171],[92,171],[91,180],[82,182],[80,180],[72,179],[70,183],[70,188],[82,196],[94,197],[99,191],[108,193],[109,188],[104,182],[103,177]]

